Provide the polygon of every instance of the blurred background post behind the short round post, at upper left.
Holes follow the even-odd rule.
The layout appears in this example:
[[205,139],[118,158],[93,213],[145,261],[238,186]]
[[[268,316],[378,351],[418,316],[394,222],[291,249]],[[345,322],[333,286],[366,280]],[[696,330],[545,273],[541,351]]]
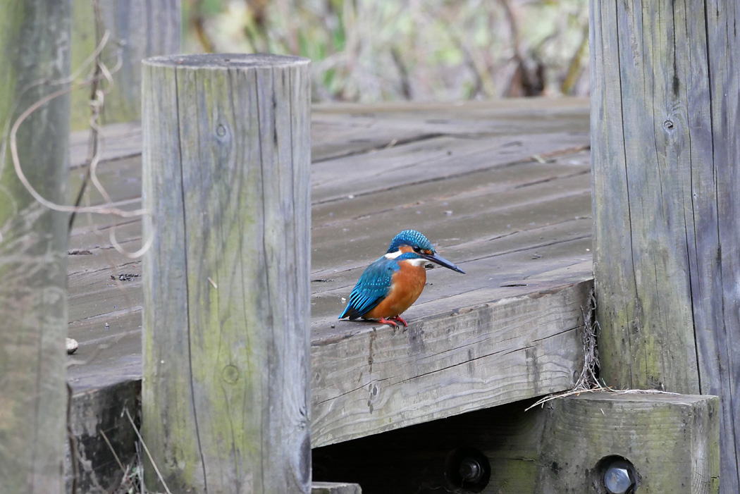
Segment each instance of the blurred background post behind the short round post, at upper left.
[[[101,123],[114,124],[141,118],[141,60],[180,52],[181,0],[98,0],[102,24],[98,28],[92,0],[73,0],[72,65],[76,70],[95,51],[98,39],[107,30],[110,41],[103,52],[109,69],[121,54],[120,70],[113,74],[113,86],[105,96]],[[98,32],[99,31],[99,32]],[[82,77],[87,75],[83,72]],[[90,125],[90,90],[72,95],[72,127]]]

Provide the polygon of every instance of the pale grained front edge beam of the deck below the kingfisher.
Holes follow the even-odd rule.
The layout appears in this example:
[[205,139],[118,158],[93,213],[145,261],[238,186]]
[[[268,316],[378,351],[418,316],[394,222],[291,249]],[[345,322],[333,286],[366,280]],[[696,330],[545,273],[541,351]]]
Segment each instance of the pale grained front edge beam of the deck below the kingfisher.
[[314,447],[571,388],[590,290],[467,292],[408,331],[358,324],[314,339]]

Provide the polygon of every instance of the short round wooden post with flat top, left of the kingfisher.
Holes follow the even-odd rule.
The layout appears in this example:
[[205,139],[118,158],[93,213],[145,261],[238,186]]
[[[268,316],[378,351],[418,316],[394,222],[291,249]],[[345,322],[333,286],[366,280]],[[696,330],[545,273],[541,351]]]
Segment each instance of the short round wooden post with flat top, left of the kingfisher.
[[143,84],[144,441],[172,492],[307,493],[309,61],[149,58]]

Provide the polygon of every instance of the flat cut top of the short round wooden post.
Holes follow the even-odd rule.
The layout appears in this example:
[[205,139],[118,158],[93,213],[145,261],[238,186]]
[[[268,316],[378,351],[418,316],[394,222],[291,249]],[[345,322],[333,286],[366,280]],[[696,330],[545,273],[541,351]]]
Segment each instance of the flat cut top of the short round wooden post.
[[145,58],[143,64],[189,69],[264,69],[269,67],[301,66],[309,58],[269,53],[199,53],[196,55],[161,55]]

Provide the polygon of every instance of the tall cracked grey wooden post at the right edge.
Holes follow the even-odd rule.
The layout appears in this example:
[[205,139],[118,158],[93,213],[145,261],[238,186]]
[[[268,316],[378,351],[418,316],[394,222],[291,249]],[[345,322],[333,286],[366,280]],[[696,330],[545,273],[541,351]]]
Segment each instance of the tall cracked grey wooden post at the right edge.
[[721,399],[740,492],[740,10],[591,1],[594,277],[602,376]]

